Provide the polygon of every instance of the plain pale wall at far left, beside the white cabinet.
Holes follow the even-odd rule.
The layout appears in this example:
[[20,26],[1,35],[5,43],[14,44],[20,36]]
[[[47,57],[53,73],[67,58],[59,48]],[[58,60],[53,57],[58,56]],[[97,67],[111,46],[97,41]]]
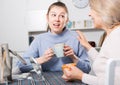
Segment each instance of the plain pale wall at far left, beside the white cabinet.
[[0,43],[17,51],[27,47],[25,13],[26,0],[0,0]]

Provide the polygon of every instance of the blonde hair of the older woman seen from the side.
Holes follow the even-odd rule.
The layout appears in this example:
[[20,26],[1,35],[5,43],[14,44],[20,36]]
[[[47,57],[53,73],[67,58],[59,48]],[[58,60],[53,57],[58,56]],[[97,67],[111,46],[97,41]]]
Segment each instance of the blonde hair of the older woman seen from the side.
[[120,0],[90,0],[90,7],[107,27],[120,25]]

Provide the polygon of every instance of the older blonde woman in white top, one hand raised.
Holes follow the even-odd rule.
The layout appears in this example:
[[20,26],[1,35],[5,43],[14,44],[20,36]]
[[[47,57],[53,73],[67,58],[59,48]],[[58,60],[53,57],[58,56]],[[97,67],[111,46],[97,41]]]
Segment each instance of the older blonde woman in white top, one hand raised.
[[[66,81],[79,79],[89,85],[105,85],[105,69],[107,60],[110,58],[120,58],[120,0],[90,0],[94,27],[103,29],[107,36],[103,42],[100,52],[91,47],[82,32],[78,40],[88,50],[88,55],[93,60],[93,70],[95,75],[90,75],[71,67],[71,70],[64,70],[63,79]],[[115,69],[115,84],[120,85],[120,67]]]

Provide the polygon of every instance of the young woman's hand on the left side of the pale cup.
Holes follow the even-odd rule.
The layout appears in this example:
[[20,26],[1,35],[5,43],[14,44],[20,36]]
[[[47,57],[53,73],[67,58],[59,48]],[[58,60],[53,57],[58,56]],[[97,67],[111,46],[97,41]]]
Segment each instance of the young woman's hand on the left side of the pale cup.
[[51,48],[47,49],[45,51],[45,53],[43,54],[43,56],[39,57],[39,58],[36,58],[36,61],[39,63],[39,64],[42,64],[42,63],[45,63],[47,61],[49,61],[52,57],[54,56],[54,52]]

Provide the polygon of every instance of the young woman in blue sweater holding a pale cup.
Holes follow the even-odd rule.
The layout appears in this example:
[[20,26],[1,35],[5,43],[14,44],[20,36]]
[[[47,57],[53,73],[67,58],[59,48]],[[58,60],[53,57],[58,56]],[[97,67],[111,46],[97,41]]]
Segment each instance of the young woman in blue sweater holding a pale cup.
[[[67,63],[76,63],[83,72],[89,73],[90,63],[84,47],[77,40],[77,33],[66,28],[68,22],[68,10],[64,3],[53,3],[47,12],[49,30],[38,35],[31,43],[23,57],[27,65],[19,63],[21,72],[28,72],[32,69],[29,62],[34,57],[38,64],[42,65],[43,71],[61,71],[61,66]],[[64,56],[57,58],[52,47],[57,43],[64,43]]]

